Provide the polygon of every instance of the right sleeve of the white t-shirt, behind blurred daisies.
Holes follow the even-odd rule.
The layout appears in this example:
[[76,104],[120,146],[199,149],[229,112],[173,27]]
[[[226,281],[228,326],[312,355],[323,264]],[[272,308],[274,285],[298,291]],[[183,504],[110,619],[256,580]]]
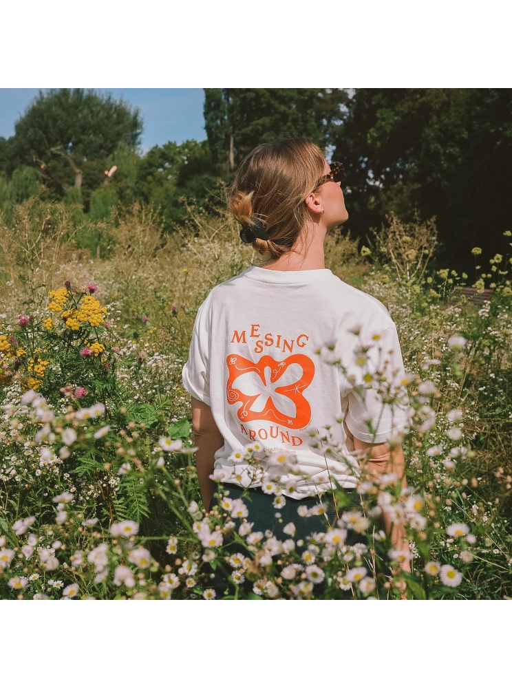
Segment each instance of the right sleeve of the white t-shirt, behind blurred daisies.
[[407,429],[406,376],[394,324],[372,341],[367,352],[354,352],[350,372],[352,386],[342,400],[350,432],[363,442],[378,444]]

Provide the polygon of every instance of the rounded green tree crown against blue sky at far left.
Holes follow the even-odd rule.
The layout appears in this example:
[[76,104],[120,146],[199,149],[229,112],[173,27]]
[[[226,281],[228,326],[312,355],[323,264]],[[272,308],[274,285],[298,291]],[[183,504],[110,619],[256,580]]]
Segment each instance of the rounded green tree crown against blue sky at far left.
[[12,166],[36,164],[62,193],[70,184],[80,188],[85,162],[107,158],[121,141],[135,149],[142,120],[137,108],[110,94],[49,89],[39,92],[14,131]]

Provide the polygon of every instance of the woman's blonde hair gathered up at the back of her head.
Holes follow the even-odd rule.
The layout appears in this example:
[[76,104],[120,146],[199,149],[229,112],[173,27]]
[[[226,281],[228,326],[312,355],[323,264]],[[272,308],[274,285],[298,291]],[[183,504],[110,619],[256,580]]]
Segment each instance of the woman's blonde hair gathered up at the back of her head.
[[253,248],[268,261],[290,252],[308,219],[304,200],[317,188],[326,159],[317,144],[305,138],[264,143],[239,165],[231,189],[231,211],[250,224],[255,215],[269,236]]

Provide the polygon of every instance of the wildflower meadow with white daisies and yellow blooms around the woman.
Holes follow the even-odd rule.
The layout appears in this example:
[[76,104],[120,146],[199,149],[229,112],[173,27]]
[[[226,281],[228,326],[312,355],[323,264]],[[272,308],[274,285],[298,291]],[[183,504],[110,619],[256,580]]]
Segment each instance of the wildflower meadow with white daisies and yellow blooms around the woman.
[[[291,522],[285,541],[253,532],[229,495],[202,508],[181,369],[198,306],[252,249],[227,212],[186,209],[171,232],[138,204],[92,222],[33,198],[0,219],[0,599],[510,599],[511,233],[487,266],[465,247],[473,275],[436,264],[434,220],[328,237],[326,266],[398,327],[407,378],[367,357],[361,389],[407,391],[409,488],[363,462],[355,501],[339,489],[339,522],[303,543]],[[279,466],[246,453],[279,518]]]

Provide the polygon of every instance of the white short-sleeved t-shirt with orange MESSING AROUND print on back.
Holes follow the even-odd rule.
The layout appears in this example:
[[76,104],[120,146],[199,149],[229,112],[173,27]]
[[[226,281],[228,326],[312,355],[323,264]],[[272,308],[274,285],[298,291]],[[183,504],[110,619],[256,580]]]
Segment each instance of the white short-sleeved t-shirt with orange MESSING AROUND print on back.
[[[398,405],[372,389],[376,371],[400,390]],[[235,474],[244,465],[230,455],[257,442],[295,453],[303,475],[283,479],[290,480],[284,494],[295,498],[325,491],[332,478],[356,485],[343,419],[356,438],[375,444],[406,429],[409,418],[390,314],[326,269],[253,266],[213,288],[198,310],[182,378],[211,407],[224,438],[215,453],[222,482],[240,484]],[[328,452],[319,440],[326,429]]]

